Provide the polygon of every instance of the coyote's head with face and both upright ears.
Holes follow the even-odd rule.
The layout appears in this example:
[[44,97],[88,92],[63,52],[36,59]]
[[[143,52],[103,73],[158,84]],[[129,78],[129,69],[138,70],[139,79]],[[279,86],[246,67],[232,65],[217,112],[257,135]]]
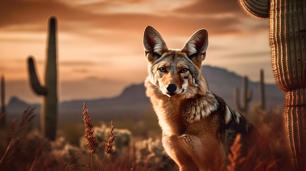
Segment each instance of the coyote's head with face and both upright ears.
[[208,45],[206,30],[198,30],[182,49],[174,50],[168,49],[159,33],[148,26],[143,44],[149,62],[148,79],[162,94],[190,98],[197,93],[205,81],[200,78],[200,69]]

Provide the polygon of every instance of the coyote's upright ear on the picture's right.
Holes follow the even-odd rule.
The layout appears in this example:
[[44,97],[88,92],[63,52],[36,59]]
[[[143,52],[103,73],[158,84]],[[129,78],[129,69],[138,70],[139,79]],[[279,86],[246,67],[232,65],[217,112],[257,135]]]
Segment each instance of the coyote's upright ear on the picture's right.
[[208,46],[208,34],[205,29],[198,30],[185,43],[181,52],[187,56],[200,68],[202,60],[205,59]]

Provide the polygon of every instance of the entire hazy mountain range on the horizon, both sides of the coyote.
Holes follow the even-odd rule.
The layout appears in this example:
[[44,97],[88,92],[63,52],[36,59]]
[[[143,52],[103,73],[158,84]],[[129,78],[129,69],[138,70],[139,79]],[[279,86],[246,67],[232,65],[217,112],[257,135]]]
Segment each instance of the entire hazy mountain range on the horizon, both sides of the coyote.
[[[239,86],[241,90],[242,77],[211,66],[202,66],[202,74],[206,78],[212,92],[222,97],[232,107],[236,107],[234,100],[234,88]],[[249,82],[249,89],[253,91],[253,103],[259,101],[259,83]],[[284,93],[275,84],[265,84],[265,97],[267,109],[281,107]],[[59,122],[66,120],[81,121],[83,118],[83,101],[74,100],[59,103]],[[92,120],[111,120],[124,118],[138,118],[145,113],[153,113],[149,98],[145,95],[143,84],[127,87],[121,95],[113,98],[101,98],[86,100],[87,109]],[[7,114],[22,114],[28,106],[36,107],[35,113],[39,115],[39,104],[26,104],[17,97],[13,97],[7,105]]]

